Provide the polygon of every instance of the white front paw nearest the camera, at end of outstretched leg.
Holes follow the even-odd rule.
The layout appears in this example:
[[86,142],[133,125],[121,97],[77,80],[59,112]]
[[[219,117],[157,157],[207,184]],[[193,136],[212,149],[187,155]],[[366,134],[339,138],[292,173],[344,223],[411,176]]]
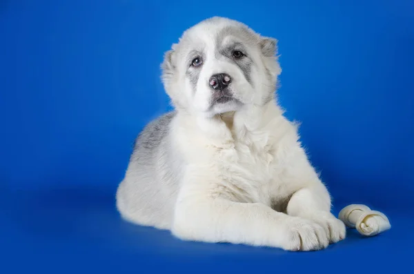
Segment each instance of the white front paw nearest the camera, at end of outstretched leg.
[[308,219],[294,217],[286,224],[288,251],[317,251],[329,244],[328,235],[322,226]]

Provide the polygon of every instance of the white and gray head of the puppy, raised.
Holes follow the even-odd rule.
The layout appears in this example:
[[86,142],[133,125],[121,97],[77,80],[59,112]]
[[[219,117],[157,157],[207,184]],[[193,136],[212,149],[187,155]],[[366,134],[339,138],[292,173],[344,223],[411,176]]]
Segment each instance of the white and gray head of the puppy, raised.
[[281,69],[277,41],[238,21],[213,17],[186,30],[166,52],[162,79],[177,108],[213,117],[264,105]]

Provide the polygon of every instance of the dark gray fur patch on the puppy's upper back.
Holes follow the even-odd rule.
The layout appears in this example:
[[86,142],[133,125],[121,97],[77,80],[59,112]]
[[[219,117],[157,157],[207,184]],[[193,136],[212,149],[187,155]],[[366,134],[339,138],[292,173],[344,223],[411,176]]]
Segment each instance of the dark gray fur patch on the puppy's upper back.
[[157,148],[161,141],[168,135],[170,122],[175,117],[175,111],[168,112],[161,117],[151,121],[144,130],[139,133],[135,140],[134,150],[146,148],[153,150]]

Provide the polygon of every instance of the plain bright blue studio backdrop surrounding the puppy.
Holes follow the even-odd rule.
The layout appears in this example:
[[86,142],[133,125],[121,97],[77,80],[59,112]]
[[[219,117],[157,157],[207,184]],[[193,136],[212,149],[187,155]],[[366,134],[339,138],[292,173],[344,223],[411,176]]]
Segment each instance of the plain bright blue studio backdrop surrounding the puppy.
[[[170,110],[163,53],[215,15],[279,39],[279,101],[302,122],[335,213],[367,204],[388,215],[391,231],[348,231],[325,251],[287,253],[181,242],[120,219],[115,190],[132,143]],[[0,1],[0,272],[406,267],[414,244],[413,51],[408,0]]]

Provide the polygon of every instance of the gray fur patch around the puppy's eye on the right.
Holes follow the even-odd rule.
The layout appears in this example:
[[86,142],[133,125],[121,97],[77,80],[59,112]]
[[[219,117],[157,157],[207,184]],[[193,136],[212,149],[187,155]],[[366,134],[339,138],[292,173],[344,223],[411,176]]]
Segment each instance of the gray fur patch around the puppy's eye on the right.
[[[226,28],[223,28],[217,34],[215,41],[215,45],[217,47],[215,49],[215,57],[217,59],[225,57],[226,59],[233,61],[240,68],[240,70],[242,70],[246,81],[248,81],[250,85],[253,85],[250,75],[251,67],[254,65],[253,60],[248,56],[248,52],[246,52],[246,48],[244,47],[243,43],[234,41],[233,43],[223,45],[223,40],[228,36],[241,37],[246,40],[247,43],[257,43],[257,36],[243,26],[228,26]],[[240,50],[246,56],[244,56],[242,59],[235,59],[232,56],[233,50]]]

